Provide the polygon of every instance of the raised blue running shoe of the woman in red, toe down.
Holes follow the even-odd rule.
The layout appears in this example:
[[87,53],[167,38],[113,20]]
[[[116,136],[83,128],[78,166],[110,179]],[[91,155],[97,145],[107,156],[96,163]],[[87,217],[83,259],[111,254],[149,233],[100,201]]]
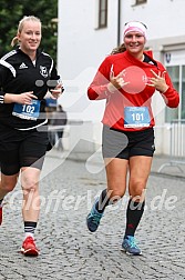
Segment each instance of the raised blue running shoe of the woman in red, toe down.
[[100,224],[100,220],[102,219],[103,217],[103,213],[100,213],[96,209],[95,209],[95,203],[97,202],[99,200],[95,200],[92,209],[91,209],[91,212],[88,214],[86,217],[86,226],[88,226],[88,229],[91,231],[91,232],[94,232],[97,230],[99,228],[99,224]]

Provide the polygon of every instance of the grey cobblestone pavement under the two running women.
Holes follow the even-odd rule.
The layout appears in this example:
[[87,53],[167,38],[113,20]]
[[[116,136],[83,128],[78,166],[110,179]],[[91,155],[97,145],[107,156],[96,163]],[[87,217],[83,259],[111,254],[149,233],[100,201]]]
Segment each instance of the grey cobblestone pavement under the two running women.
[[[93,169],[94,168],[94,169]],[[151,174],[146,210],[136,238],[141,257],[121,250],[126,199],[106,209],[95,233],[85,218],[105,188],[104,169],[48,157],[40,183],[42,210],[35,232],[38,258],[20,253],[23,238],[20,186],[7,197],[0,228],[0,280],[185,279],[184,180]]]

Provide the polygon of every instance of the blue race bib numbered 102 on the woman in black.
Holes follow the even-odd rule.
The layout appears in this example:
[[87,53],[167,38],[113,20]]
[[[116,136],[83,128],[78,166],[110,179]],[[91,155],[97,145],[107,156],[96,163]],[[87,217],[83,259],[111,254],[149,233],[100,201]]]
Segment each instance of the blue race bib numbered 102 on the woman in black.
[[37,120],[40,112],[40,101],[32,100],[31,104],[14,103],[12,114],[25,120]]

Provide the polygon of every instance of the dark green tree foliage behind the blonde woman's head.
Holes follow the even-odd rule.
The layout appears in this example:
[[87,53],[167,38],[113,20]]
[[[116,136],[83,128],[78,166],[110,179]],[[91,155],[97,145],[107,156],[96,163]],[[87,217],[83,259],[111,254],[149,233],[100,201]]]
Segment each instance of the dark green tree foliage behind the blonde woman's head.
[[42,22],[41,48],[56,62],[58,0],[0,0],[0,57],[10,51],[23,16],[35,16]]

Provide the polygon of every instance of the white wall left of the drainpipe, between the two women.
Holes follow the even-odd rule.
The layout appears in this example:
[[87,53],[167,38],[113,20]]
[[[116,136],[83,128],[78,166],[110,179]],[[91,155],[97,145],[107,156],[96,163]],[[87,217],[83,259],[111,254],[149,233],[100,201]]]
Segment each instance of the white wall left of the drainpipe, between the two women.
[[100,121],[104,101],[92,102],[86,90],[99,64],[116,46],[117,1],[109,2],[109,27],[95,30],[96,0],[59,0],[58,69],[64,83],[60,99],[71,119]]

